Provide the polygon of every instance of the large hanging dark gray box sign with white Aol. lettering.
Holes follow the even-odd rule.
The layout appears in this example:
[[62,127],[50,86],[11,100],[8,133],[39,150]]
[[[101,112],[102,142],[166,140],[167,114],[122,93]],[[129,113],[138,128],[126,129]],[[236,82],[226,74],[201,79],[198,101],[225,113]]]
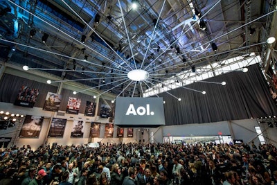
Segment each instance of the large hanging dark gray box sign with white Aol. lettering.
[[165,125],[163,98],[116,98],[114,123],[120,127]]

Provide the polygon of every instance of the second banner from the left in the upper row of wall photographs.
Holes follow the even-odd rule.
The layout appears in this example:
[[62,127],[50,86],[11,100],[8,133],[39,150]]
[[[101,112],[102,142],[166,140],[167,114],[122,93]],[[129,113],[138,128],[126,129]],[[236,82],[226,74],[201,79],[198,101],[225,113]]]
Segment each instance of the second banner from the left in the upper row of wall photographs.
[[48,92],[43,109],[57,112],[60,108],[61,100],[62,100],[62,95]]

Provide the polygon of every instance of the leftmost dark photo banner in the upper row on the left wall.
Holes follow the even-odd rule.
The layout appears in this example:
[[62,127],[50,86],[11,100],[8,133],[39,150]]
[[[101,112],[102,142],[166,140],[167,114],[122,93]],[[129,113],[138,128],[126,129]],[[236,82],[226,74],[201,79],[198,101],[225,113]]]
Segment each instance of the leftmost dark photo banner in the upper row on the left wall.
[[39,89],[22,85],[17,94],[14,105],[33,108],[39,95]]

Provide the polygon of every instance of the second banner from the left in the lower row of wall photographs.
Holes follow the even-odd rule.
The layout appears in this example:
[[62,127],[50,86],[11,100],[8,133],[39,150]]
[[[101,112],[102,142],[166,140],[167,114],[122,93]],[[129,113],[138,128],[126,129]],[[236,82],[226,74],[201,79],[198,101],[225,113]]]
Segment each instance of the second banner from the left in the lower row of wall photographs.
[[48,137],[63,137],[66,121],[66,119],[62,118],[53,118],[48,132]]

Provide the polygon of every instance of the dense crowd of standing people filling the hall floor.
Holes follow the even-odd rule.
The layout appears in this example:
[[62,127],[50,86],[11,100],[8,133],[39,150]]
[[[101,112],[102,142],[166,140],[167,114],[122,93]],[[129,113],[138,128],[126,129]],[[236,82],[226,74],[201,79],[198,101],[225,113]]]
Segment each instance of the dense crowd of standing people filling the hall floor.
[[0,185],[271,185],[277,150],[254,143],[119,143],[0,150]]

